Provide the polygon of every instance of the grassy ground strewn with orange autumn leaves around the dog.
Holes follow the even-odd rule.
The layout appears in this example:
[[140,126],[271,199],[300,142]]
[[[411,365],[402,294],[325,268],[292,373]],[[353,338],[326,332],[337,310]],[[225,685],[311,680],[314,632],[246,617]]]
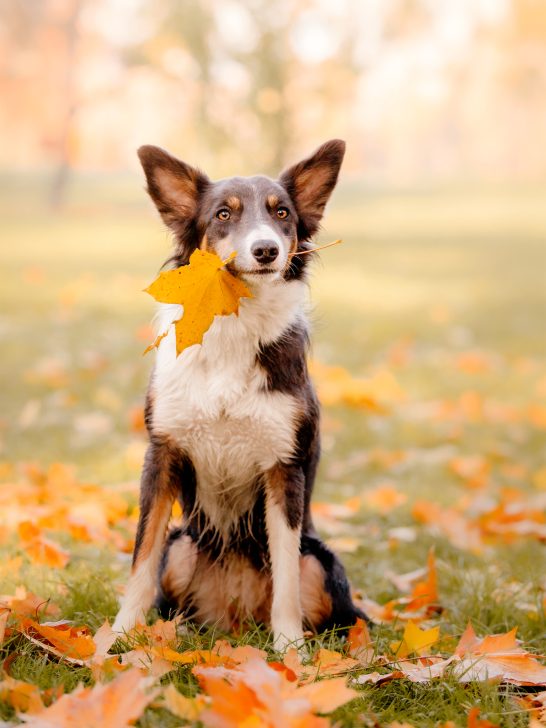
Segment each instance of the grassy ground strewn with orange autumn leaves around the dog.
[[259,625],[109,630],[145,449],[141,291],[168,253],[134,186],[79,183],[60,216],[5,190],[0,720],[546,725],[544,190],[340,189],[324,240],[345,243],[312,284],[313,510],[373,624],[279,655]]

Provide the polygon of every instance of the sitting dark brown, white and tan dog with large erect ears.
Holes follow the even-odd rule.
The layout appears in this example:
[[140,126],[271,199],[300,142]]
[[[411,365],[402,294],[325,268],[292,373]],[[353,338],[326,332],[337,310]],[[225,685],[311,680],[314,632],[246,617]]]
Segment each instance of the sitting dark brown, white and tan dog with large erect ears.
[[[307,372],[306,272],[345,144],[332,140],[277,180],[211,181],[154,146],[139,149],[148,192],[174,235],[173,266],[201,248],[228,264],[253,297],[217,316],[201,345],[176,356],[173,327],[148,389],[132,574],[114,623],[164,615],[230,629],[253,619],[274,644],[303,628],[347,627],[353,604],[342,564],[313,527],[319,406]],[[162,305],[159,330],[180,318]],[[167,527],[175,499],[183,524]]]

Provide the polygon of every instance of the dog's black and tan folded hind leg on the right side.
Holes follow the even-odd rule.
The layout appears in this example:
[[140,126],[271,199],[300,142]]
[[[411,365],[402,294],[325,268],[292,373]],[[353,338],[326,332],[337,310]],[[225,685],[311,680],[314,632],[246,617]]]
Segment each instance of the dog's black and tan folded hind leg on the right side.
[[309,534],[301,539],[301,599],[304,620],[316,632],[366,619],[353,603],[341,561],[318,536]]

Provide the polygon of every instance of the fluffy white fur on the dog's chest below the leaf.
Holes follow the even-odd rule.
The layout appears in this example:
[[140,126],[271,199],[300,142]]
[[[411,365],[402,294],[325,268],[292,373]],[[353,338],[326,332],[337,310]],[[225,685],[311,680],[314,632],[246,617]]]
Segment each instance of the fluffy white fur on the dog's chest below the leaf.
[[[197,503],[221,531],[252,506],[256,476],[293,452],[297,403],[266,391],[256,354],[302,318],[305,292],[299,281],[264,282],[254,298],[241,301],[238,317],[214,320],[201,346],[177,358],[171,330],[159,347],[154,430],[174,438],[191,458]],[[180,313],[179,306],[161,306],[158,330]]]

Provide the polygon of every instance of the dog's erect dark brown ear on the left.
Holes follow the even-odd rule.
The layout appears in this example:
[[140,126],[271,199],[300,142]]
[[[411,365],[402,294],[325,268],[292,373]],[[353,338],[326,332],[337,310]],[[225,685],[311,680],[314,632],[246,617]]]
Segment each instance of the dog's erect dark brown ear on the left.
[[159,214],[178,242],[184,242],[195,222],[199,197],[211,184],[209,178],[160,147],[140,147],[138,157]]

